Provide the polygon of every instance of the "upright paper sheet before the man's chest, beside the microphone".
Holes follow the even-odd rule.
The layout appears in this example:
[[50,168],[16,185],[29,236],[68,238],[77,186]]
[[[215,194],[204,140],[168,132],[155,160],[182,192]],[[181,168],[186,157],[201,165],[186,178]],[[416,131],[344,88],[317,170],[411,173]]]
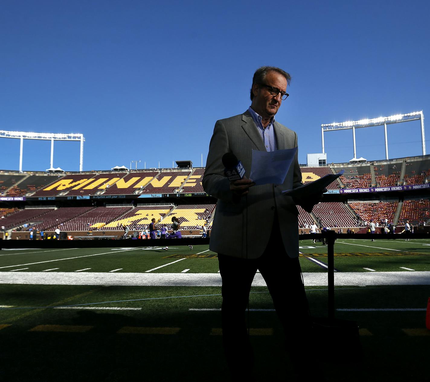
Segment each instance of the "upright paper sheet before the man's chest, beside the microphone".
[[297,147],[269,152],[252,150],[249,179],[256,185],[283,184],[296,152]]

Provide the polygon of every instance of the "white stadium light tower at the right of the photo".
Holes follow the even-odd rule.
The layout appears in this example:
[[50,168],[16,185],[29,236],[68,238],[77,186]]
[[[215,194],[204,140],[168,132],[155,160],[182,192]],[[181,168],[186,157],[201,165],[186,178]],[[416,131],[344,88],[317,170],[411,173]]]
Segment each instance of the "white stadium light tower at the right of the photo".
[[341,123],[335,122],[335,123],[329,123],[329,124],[322,124],[321,125],[322,152],[324,153],[324,131],[352,129],[354,158],[357,158],[356,146],[355,146],[355,129],[358,129],[359,127],[371,127],[371,126],[384,125],[385,158],[388,160],[387,124],[408,122],[408,121],[418,121],[418,120],[421,121],[421,141],[422,141],[423,155],[426,155],[426,139],[424,134],[424,114],[422,110],[420,112],[390,115],[389,117],[378,117],[373,119],[361,119],[359,121],[346,121]]

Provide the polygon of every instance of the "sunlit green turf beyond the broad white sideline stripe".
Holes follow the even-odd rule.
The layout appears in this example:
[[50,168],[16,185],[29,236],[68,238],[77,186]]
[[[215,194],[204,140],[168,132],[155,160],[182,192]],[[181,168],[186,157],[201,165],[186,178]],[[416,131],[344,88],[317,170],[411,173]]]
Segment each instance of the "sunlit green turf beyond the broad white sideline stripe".
[[[363,268],[377,271],[405,271],[400,267],[414,270],[430,270],[430,240],[337,240],[335,243],[335,267],[342,272],[367,272]],[[324,267],[304,259],[312,256],[327,264],[327,246],[302,240],[301,266],[303,272],[326,272]],[[304,248],[311,247],[311,248]],[[157,247],[159,248],[159,247]],[[22,272],[41,272],[59,268],[49,272],[74,272],[90,268],[84,272],[117,272],[144,273],[148,270],[186,257],[166,267],[151,271],[154,273],[181,273],[189,269],[189,273],[216,273],[218,262],[216,255],[208,250],[208,246],[170,247],[168,251],[151,248],[105,248],[105,249],[67,249],[67,250],[21,250],[1,251],[0,271],[28,268]],[[21,271],[20,271],[21,272]]]

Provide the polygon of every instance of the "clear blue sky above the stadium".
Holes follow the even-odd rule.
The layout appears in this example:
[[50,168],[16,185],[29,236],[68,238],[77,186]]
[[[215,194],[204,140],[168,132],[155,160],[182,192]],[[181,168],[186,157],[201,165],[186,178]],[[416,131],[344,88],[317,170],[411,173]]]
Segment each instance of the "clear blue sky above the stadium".
[[[83,133],[84,170],[197,167],[215,121],[244,112],[254,71],[272,65],[292,75],[276,119],[306,163],[322,123],[430,118],[429,4],[3,1],[0,130]],[[325,141],[330,163],[353,157],[351,130]],[[389,126],[388,141],[390,158],[422,154],[419,122]],[[358,157],[385,158],[383,127],[356,142]],[[17,170],[19,140],[0,139],[0,152],[0,169]],[[25,140],[23,170],[49,161],[50,142]],[[54,167],[79,170],[79,144],[55,142]]]

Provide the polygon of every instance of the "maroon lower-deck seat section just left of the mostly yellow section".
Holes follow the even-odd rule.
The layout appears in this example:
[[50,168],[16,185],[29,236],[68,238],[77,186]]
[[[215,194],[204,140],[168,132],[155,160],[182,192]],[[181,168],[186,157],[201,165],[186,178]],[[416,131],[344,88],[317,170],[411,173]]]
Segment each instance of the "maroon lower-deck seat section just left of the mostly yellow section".
[[84,230],[104,230],[104,226],[111,221],[118,220],[132,209],[132,206],[125,207],[96,207],[77,218],[66,221],[61,230],[63,231],[84,231]]

